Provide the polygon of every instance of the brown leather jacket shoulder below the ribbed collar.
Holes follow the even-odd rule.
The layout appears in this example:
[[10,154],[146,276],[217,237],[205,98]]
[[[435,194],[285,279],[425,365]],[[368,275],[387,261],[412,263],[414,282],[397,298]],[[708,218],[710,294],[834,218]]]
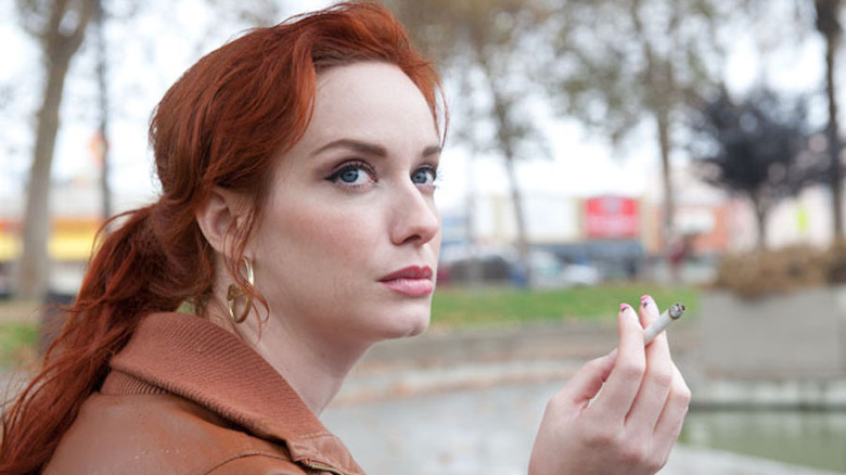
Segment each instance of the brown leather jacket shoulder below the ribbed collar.
[[93,394],[44,468],[59,474],[304,474],[284,446],[169,395]]

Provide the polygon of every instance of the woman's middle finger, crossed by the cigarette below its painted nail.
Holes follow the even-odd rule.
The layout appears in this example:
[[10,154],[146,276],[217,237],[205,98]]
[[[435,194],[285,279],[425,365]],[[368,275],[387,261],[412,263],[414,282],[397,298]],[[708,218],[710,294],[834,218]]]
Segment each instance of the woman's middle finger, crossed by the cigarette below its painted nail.
[[[657,305],[649,295],[641,297],[640,317],[643,325],[658,318]],[[646,372],[626,418],[626,425],[634,432],[652,434],[664,410],[667,396],[674,383],[672,359],[667,336],[662,332],[645,349]]]

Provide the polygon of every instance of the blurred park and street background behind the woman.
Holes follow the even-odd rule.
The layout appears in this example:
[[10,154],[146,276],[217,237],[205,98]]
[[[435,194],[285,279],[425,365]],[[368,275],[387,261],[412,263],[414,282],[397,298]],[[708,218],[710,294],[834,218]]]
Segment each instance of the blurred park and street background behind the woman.
[[[331,3],[0,3],[4,375],[37,364],[59,314],[43,304],[73,298],[104,220],[156,198],[146,128],[167,88],[241,31]],[[619,301],[650,293],[689,307],[683,441],[756,458],[707,473],[846,472],[842,2],[383,3],[438,64],[450,124],[433,329],[374,349],[328,414],[362,459],[520,473],[543,397],[613,347]],[[473,399],[483,386],[493,402]],[[451,449],[409,472],[410,442],[394,460],[361,434],[380,434],[386,399],[432,427],[461,405],[531,416],[501,439],[473,421],[477,441],[432,436]],[[520,431],[526,447],[497,459]],[[690,457],[668,470],[697,473]]]

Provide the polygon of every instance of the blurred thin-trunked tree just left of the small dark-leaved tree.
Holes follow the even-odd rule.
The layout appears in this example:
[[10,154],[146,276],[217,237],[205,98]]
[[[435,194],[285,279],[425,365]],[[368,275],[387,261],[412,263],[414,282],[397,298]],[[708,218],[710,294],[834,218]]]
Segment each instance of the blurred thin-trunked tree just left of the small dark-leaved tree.
[[[663,232],[674,235],[674,132],[691,98],[721,74],[715,0],[572,0],[560,3],[557,62],[547,78],[561,111],[607,133],[612,142],[644,121],[655,130],[664,191]],[[666,242],[666,241],[665,241]]]

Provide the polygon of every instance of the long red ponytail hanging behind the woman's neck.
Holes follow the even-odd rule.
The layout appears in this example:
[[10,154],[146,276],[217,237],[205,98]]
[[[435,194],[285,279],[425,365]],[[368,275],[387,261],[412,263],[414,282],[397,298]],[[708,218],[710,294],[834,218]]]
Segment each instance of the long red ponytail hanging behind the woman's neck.
[[[174,267],[155,233],[158,209],[159,205],[151,205],[125,213],[101,228],[100,236],[108,224],[126,218],[103,238],[76,300],[66,309],[62,333],[44,355],[41,372],[2,415],[0,474],[39,473],[82,402],[99,389],[111,357],[126,345],[141,317],[175,310],[191,295],[175,294],[175,288],[183,288],[183,294],[194,291],[168,287]],[[208,275],[210,287],[210,270]]]

